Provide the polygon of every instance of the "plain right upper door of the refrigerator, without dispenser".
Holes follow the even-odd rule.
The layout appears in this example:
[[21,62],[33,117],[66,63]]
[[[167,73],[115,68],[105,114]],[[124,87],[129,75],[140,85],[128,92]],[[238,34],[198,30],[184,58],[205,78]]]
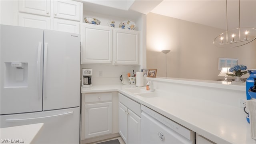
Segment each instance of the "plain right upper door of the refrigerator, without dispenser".
[[80,34],[44,30],[43,110],[80,103]]

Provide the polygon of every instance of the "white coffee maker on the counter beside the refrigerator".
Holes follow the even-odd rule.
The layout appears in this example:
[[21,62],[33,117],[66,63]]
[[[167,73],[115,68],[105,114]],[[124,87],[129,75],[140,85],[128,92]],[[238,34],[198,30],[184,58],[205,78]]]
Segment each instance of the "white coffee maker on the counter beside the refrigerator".
[[92,68],[82,68],[82,87],[92,87]]

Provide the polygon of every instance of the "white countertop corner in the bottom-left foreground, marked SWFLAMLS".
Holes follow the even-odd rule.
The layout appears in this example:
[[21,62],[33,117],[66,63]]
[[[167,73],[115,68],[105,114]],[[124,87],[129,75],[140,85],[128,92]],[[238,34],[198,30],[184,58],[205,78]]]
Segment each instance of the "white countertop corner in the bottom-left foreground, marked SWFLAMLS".
[[43,123],[0,128],[1,143],[31,144]]

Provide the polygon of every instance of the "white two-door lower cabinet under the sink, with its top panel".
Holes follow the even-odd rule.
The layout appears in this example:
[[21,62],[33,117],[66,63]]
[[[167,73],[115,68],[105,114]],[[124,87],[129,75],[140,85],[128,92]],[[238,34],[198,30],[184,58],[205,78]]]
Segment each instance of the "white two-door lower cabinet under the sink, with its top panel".
[[122,94],[119,96],[119,134],[126,144],[140,144],[140,104]]

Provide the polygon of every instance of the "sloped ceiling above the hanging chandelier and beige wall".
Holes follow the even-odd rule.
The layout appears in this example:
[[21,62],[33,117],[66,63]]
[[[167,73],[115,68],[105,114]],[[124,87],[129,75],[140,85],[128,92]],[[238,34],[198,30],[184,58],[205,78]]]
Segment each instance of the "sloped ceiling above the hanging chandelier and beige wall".
[[[239,27],[239,1],[228,0],[228,30]],[[151,12],[226,30],[226,0],[163,0]],[[256,0],[240,0],[240,27],[256,28]]]

